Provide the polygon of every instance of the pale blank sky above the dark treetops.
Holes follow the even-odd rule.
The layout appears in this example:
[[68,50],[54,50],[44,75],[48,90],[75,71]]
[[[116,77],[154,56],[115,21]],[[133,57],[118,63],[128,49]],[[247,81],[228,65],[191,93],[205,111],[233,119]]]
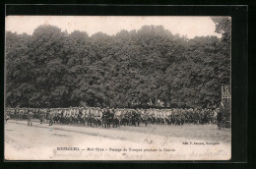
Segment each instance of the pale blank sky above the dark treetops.
[[114,16],[8,16],[6,30],[32,34],[40,25],[51,25],[67,30],[86,31],[92,35],[98,31],[113,35],[122,29],[140,29],[142,26],[163,26],[173,34],[188,38],[221,34],[215,32],[215,23],[210,17],[114,17]]

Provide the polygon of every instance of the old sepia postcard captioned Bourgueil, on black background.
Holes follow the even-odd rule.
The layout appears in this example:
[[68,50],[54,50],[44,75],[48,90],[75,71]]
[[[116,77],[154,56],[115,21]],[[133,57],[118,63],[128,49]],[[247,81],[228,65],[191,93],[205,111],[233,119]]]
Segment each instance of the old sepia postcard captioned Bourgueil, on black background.
[[231,17],[6,16],[4,108],[7,161],[230,160]]

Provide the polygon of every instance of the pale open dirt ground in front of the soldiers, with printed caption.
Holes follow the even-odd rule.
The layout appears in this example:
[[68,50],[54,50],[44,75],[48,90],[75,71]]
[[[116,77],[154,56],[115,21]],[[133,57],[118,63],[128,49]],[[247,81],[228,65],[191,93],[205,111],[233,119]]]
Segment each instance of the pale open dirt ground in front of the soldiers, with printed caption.
[[[211,126],[204,128],[207,134],[188,139],[180,137],[180,133],[191,133],[191,126],[102,129],[62,125],[49,127],[47,124],[33,123],[29,127],[25,121],[9,121],[5,125],[5,157],[9,160],[228,159],[228,131],[219,131],[219,140],[224,141],[207,141],[200,138],[208,136],[209,130],[213,129]],[[61,150],[63,147],[76,148]]]

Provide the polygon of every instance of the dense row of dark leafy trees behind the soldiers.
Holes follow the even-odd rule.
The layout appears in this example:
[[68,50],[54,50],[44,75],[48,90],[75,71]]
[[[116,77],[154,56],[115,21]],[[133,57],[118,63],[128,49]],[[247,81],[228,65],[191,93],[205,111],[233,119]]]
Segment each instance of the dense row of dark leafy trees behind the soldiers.
[[230,20],[213,21],[221,39],[187,39],[161,26],[92,36],[53,26],[32,35],[7,31],[6,104],[218,106],[230,81]]

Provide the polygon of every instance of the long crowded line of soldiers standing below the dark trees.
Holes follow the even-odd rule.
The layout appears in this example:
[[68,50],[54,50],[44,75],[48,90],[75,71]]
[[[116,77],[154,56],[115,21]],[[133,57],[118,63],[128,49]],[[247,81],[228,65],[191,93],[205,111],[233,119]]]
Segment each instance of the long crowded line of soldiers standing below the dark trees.
[[113,109],[99,107],[71,108],[7,108],[6,114],[11,119],[27,119],[32,126],[32,119],[40,123],[65,125],[88,125],[104,128],[120,125],[140,126],[148,124],[217,124],[219,109]]

